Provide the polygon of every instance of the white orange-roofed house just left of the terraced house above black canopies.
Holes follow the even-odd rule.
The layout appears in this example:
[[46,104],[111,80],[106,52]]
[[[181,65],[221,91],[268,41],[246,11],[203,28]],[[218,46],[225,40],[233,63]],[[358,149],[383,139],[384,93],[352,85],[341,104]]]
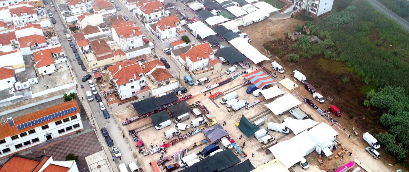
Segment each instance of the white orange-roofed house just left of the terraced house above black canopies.
[[146,85],[141,65],[133,60],[117,62],[109,66],[108,71],[121,100],[136,96],[137,91]]

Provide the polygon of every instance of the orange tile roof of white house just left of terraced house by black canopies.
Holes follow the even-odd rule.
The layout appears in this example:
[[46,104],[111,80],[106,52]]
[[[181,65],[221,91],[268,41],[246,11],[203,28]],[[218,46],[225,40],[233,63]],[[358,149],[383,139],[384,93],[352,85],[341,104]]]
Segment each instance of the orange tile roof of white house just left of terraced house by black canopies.
[[[121,66],[121,69],[119,69],[119,66]],[[144,73],[139,63],[133,60],[117,62],[115,65],[109,66],[108,70],[110,71],[112,77],[116,79],[117,85],[128,84],[129,79],[134,79],[137,81],[141,79],[139,74]]]

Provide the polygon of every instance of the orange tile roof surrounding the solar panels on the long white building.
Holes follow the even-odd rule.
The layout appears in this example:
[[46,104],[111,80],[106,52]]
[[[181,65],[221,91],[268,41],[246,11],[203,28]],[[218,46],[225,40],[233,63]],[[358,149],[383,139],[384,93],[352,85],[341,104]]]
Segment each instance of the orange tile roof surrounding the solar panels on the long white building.
[[[26,128],[24,128],[22,130],[17,130],[17,126],[22,124],[22,123],[26,123],[26,122],[32,121],[34,119],[45,117],[47,115],[51,115],[51,114],[54,114],[56,112],[60,112],[62,110],[72,108],[74,106],[76,106],[77,109],[78,109],[75,112],[71,112],[71,113],[62,115],[60,117],[56,117],[56,118],[52,119],[51,121],[41,122],[41,123],[38,123],[38,124],[35,124],[35,125],[32,125],[32,126],[26,127]],[[65,119],[65,118],[70,117],[72,115],[75,115],[75,114],[77,114],[79,112],[80,112],[79,107],[78,107],[78,104],[76,103],[75,100],[67,101],[67,102],[64,102],[62,104],[58,104],[56,106],[51,106],[49,108],[45,108],[45,109],[42,109],[42,110],[39,110],[39,111],[36,111],[36,112],[31,112],[29,114],[22,115],[22,116],[14,118],[13,119],[14,120],[14,126],[10,127],[9,124],[0,123],[0,138],[20,134],[21,132],[32,130],[33,128],[36,128],[38,126],[45,125],[46,123],[49,123],[49,122],[52,122],[52,121],[58,121],[58,120],[61,120],[61,119]]]

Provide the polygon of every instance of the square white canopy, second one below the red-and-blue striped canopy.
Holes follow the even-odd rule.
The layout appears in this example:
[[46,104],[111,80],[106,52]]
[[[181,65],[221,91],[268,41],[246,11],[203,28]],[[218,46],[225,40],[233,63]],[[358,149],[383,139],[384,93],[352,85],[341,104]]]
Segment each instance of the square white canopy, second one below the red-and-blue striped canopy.
[[269,108],[275,115],[279,115],[299,104],[301,104],[301,101],[288,93],[283,97],[275,99],[269,104],[265,104],[265,106],[267,106],[267,108]]

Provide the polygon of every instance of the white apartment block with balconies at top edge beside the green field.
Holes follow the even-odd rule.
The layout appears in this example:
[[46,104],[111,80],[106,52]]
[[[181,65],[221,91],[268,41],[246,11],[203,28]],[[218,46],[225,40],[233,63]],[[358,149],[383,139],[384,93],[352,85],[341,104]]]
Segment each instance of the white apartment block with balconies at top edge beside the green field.
[[295,7],[306,9],[312,16],[318,17],[332,10],[334,0],[292,0]]

